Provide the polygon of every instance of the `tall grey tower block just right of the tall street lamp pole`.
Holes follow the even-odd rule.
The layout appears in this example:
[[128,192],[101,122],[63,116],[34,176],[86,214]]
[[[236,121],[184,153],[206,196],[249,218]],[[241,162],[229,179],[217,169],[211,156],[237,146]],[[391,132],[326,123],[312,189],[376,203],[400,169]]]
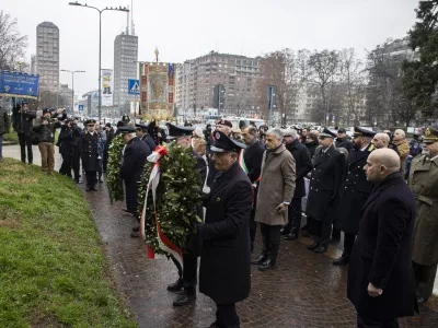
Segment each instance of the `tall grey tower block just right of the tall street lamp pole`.
[[122,33],[114,40],[114,106],[129,112],[134,95],[128,94],[128,80],[137,79],[138,36]]

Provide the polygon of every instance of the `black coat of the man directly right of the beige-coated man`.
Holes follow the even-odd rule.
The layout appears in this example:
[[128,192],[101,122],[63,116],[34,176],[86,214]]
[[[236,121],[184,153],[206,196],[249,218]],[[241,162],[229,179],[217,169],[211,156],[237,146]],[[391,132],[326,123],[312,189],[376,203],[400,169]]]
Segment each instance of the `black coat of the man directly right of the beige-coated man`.
[[286,145],[286,149],[292,154],[296,165],[297,177],[295,179],[293,198],[302,198],[306,196],[304,177],[312,171],[312,160],[308,148],[298,139]]

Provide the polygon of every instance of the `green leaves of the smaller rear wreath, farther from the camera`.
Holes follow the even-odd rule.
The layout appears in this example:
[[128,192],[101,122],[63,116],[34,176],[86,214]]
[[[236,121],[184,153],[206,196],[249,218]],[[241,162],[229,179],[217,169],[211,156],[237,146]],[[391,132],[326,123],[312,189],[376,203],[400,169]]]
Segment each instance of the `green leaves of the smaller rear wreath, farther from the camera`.
[[120,179],[122,152],[124,147],[123,137],[117,136],[113,139],[113,143],[108,150],[106,184],[108,186],[111,204],[125,199],[123,180]]

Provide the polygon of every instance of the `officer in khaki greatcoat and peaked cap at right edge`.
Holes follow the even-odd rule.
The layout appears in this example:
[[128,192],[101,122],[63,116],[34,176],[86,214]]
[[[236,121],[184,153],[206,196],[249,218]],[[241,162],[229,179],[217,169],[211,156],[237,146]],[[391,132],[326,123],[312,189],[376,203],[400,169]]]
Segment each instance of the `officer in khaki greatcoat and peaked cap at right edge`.
[[438,127],[424,130],[423,152],[411,164],[408,186],[417,200],[412,261],[418,303],[431,295],[438,263]]

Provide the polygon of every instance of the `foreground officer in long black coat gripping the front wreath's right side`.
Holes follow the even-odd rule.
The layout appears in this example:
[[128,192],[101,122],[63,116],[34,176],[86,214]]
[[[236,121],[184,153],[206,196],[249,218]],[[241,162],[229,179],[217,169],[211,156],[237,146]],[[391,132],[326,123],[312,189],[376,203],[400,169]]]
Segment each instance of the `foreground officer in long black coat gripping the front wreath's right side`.
[[247,233],[253,191],[247,175],[238,163],[245,145],[220,131],[215,132],[212,162],[218,174],[205,206],[206,220],[199,225],[203,237],[199,291],[217,305],[210,327],[240,327],[235,303],[251,290],[250,234]]

